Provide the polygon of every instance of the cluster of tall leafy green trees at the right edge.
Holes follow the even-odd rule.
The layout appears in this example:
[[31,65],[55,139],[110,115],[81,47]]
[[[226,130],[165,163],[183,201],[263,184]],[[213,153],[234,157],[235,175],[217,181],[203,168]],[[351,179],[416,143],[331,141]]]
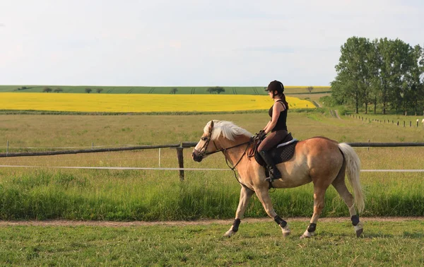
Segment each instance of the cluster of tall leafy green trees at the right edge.
[[387,38],[350,37],[341,46],[331,98],[336,104],[424,112],[424,52],[420,45]]

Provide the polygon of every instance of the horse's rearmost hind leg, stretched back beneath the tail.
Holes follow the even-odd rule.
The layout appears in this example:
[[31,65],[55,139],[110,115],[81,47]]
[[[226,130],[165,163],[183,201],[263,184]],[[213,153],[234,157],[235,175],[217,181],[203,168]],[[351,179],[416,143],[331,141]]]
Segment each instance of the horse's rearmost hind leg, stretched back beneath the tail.
[[343,172],[341,171],[341,173],[338,174],[337,178],[332,184],[337,193],[341,196],[341,198],[343,198],[346,206],[348,206],[349,213],[351,214],[352,225],[355,229],[356,236],[359,237],[363,233],[363,223],[359,221],[359,216],[355,210],[355,201],[351,192],[349,192],[348,188],[346,187],[344,175],[345,172],[343,170]]

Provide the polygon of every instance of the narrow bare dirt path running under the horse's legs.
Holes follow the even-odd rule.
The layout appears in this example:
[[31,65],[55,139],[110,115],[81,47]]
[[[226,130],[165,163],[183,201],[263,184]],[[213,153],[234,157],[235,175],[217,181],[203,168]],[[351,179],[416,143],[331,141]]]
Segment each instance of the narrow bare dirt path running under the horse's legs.
[[[310,218],[287,218],[290,221],[309,222]],[[408,220],[421,220],[424,217],[363,217],[363,222],[403,222]],[[271,222],[270,218],[245,218],[242,223],[266,223]],[[321,218],[319,222],[348,222],[349,218]],[[99,226],[99,227],[129,227],[129,226],[154,226],[154,225],[169,225],[169,226],[185,226],[185,225],[232,225],[232,220],[194,220],[194,221],[166,221],[166,222],[111,222],[98,220],[0,220],[0,227],[7,226]]]

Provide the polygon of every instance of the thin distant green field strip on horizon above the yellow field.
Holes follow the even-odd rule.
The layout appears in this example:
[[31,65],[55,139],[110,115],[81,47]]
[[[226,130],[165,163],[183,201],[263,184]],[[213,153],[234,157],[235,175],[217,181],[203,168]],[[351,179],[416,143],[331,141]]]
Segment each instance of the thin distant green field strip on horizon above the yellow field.
[[[27,89],[18,90],[25,86]],[[86,93],[86,88],[91,88],[92,93],[96,93],[97,88],[102,88],[102,94],[170,94],[172,88],[177,88],[176,94],[182,95],[203,95],[209,94],[206,90],[209,86],[68,86],[68,85],[0,85],[0,92],[17,92],[17,93],[41,93],[44,88],[49,87],[52,90],[61,88],[61,93]],[[211,86],[213,87],[213,86]],[[251,86],[251,87],[235,87],[235,86],[223,86],[225,92],[220,93],[221,95],[266,95],[264,87]],[[329,92],[331,88],[329,86],[314,86],[311,93],[322,93]],[[285,93],[287,94],[309,94],[307,86],[286,86]]]

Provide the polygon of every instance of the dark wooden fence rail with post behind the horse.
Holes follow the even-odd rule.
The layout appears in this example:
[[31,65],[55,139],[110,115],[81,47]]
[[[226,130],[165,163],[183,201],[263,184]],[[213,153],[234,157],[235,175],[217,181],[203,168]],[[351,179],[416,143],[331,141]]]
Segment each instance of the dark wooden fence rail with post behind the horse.
[[[81,150],[61,150],[61,151],[43,151],[43,152],[27,152],[27,153],[0,153],[0,158],[10,157],[28,157],[28,156],[41,156],[41,155],[66,155],[66,154],[78,154],[78,153],[101,153],[101,152],[114,152],[114,151],[126,151],[126,150],[144,150],[144,149],[158,149],[158,148],[175,148],[177,151],[177,159],[179,168],[179,179],[184,180],[184,148],[193,148],[196,146],[195,142],[181,142],[170,145],[159,145],[159,146],[129,146],[125,148],[97,148],[97,149],[81,149]],[[349,146],[356,148],[394,148],[394,147],[414,147],[424,146],[424,143],[348,143]],[[6,167],[6,166],[1,166]],[[29,166],[27,166],[29,167]],[[133,168],[141,169],[141,168]],[[370,170],[368,170],[370,171]],[[396,170],[399,171],[399,170]]]

